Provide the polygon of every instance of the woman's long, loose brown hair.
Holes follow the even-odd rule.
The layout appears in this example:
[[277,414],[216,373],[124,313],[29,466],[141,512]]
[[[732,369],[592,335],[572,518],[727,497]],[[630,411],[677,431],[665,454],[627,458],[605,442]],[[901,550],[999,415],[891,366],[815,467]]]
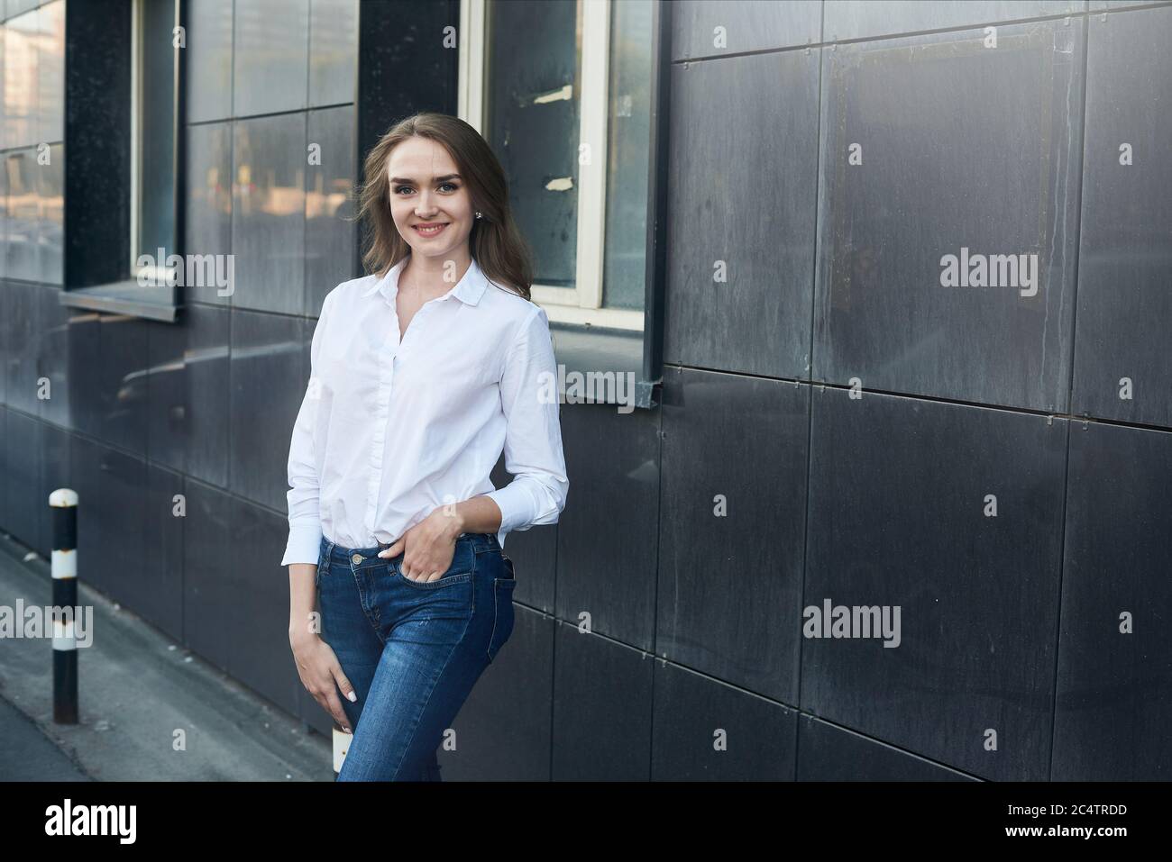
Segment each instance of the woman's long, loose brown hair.
[[411,252],[390,214],[390,182],[387,160],[391,151],[410,137],[442,144],[468,184],[472,212],[469,251],[489,281],[530,299],[533,283],[532,253],[517,230],[509,208],[509,182],[492,148],[471,125],[458,117],[425,111],[395,123],[367,153],[364,182],[359,191],[356,218],[366,230],[362,264],[368,273],[382,276]]

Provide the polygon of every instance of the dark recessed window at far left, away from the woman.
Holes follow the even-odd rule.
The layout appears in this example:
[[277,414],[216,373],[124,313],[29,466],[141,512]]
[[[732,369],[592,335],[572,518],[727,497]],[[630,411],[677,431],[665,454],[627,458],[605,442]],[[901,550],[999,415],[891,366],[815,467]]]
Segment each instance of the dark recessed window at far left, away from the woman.
[[[168,260],[180,253],[183,235],[176,30],[183,8],[183,0],[66,6],[64,152],[79,167],[64,179],[63,305],[168,322],[178,316]],[[102,183],[94,182],[97,172]]]

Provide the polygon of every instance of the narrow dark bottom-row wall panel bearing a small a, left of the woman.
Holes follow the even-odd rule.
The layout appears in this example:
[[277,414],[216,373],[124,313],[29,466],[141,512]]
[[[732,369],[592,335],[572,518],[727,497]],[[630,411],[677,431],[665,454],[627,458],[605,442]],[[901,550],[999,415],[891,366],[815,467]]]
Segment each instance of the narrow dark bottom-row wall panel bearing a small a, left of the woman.
[[[182,642],[183,526],[186,524],[183,476],[148,463],[146,487],[143,491],[146,509],[145,577],[132,600],[135,613]],[[180,499],[176,500],[176,497]]]

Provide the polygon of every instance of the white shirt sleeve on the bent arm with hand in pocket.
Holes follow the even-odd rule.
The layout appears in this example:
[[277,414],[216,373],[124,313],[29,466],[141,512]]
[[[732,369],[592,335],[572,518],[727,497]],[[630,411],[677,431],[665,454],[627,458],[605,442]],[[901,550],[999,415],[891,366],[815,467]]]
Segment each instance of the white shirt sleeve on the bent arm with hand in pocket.
[[505,415],[505,470],[513,480],[489,492],[500,508],[500,531],[554,524],[566,506],[570,480],[561,450],[558,376],[545,309],[520,326],[500,375]]

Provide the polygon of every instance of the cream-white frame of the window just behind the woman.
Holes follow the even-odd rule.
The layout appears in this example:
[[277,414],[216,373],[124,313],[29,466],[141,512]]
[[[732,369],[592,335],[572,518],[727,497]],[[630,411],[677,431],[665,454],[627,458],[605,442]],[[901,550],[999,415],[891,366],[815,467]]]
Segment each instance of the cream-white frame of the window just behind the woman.
[[[459,90],[457,115],[484,134],[484,74],[488,59],[488,4],[461,0],[464,33],[458,42]],[[590,158],[578,165],[578,247],[574,287],[532,286],[533,301],[548,319],[642,331],[643,310],[602,308],[606,260],[607,116],[611,81],[611,0],[578,0],[581,5],[581,112],[579,139]]]

